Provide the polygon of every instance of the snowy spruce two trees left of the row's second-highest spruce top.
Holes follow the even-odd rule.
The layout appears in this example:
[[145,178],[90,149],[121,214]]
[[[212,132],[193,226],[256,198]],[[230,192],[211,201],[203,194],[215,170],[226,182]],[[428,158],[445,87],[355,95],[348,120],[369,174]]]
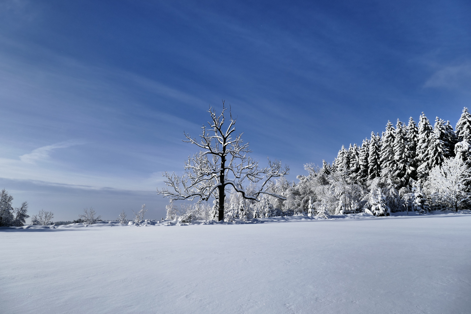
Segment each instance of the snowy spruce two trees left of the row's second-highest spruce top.
[[396,178],[398,185],[406,186],[408,183],[407,170],[409,163],[406,155],[406,134],[404,125],[401,121],[396,123],[396,134],[394,138],[394,161],[395,168],[393,169],[393,176]]

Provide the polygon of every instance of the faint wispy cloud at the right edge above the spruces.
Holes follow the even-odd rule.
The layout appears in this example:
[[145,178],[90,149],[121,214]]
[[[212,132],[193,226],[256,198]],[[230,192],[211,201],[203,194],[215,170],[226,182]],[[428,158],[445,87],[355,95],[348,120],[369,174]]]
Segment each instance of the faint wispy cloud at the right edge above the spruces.
[[424,87],[446,88],[469,92],[471,87],[471,62],[447,66],[433,73]]

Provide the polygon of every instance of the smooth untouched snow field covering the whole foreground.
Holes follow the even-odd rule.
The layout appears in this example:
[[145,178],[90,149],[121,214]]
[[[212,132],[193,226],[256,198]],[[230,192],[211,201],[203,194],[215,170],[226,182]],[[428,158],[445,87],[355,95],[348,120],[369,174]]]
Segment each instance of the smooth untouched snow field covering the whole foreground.
[[471,215],[356,217],[2,229],[0,312],[471,313]]

